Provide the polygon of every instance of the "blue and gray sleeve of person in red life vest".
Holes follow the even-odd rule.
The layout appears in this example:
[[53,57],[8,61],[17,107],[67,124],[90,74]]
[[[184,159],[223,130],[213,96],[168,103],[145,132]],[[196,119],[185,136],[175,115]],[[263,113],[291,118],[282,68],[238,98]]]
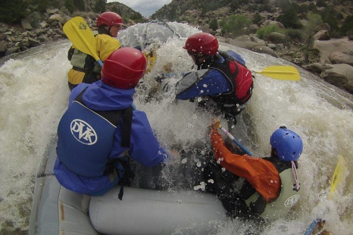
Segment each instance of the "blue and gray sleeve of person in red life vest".
[[177,99],[191,99],[198,96],[215,96],[231,90],[226,77],[217,70],[198,70],[186,73],[176,84]]

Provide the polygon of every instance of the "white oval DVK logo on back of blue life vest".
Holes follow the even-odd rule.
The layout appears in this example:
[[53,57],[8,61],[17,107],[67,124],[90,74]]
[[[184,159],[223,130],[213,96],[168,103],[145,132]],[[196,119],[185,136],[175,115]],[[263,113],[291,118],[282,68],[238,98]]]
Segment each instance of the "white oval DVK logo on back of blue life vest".
[[92,145],[97,142],[96,131],[85,121],[75,119],[70,125],[71,133],[75,139],[83,144]]

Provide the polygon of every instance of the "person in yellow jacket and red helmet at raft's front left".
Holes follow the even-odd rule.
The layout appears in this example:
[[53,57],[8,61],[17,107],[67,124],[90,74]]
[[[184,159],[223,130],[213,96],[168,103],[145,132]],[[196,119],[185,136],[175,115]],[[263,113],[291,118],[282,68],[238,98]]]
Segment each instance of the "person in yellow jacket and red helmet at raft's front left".
[[[96,25],[98,31],[93,31],[93,34],[96,38],[97,55],[102,62],[114,50],[121,47],[119,40],[115,37],[118,36],[122,25],[124,25],[123,18],[117,13],[104,12],[98,17]],[[72,46],[68,52],[68,59],[73,66],[67,74],[70,90],[82,82],[91,84],[100,79],[101,67],[91,55]]]

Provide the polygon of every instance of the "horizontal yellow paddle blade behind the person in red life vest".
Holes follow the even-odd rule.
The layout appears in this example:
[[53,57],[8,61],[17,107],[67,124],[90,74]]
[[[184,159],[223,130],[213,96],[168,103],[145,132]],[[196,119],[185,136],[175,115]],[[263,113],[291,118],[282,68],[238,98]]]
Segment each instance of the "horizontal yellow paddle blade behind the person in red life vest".
[[300,75],[298,70],[293,66],[270,66],[262,71],[255,71],[263,75],[283,80],[283,81],[299,81]]

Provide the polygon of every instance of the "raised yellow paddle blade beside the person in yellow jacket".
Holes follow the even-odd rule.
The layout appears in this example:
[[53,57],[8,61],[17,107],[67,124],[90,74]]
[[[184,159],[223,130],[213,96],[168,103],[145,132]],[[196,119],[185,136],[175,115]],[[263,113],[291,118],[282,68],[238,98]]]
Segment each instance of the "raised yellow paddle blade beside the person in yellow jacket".
[[93,32],[82,17],[76,16],[66,22],[63,30],[77,49],[91,55],[98,62],[101,61],[96,52],[96,39]]

